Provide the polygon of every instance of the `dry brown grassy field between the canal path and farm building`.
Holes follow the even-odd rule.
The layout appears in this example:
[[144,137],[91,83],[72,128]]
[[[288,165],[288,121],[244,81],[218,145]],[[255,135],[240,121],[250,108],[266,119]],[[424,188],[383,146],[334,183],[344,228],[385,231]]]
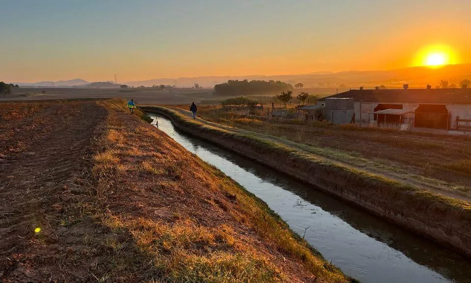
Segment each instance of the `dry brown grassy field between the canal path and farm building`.
[[241,117],[220,107],[200,107],[198,114],[211,122],[307,145],[309,151],[329,159],[366,170],[394,171],[399,176],[471,198],[469,136],[441,136],[320,122],[260,120]]

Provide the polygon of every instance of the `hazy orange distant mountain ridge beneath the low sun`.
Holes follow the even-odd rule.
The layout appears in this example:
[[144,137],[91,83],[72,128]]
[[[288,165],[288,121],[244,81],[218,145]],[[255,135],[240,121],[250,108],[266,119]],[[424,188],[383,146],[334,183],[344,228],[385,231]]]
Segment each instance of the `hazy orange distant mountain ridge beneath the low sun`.
[[462,80],[471,80],[471,64],[448,65],[442,68],[411,67],[395,70],[376,71],[343,71],[343,72],[315,72],[310,74],[279,75],[279,76],[208,76],[178,79],[154,79],[147,81],[128,82],[133,86],[177,85],[177,87],[191,87],[199,84],[203,87],[212,87],[225,83],[228,80],[264,80],[282,81],[288,84],[302,83],[305,87],[353,88],[359,86],[374,87],[386,85],[401,87],[409,84],[410,87],[426,87],[427,84],[435,87],[441,80],[448,80],[449,84],[459,85]]

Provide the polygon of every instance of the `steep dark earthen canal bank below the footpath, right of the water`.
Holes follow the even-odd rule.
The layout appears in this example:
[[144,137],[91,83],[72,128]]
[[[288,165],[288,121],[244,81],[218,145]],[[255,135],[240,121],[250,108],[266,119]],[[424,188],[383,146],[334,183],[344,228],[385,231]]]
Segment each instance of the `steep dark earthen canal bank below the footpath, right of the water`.
[[471,255],[471,208],[469,203],[447,198],[368,172],[306,156],[287,146],[227,128],[203,124],[181,113],[160,107],[147,112],[169,117],[183,132],[218,144],[249,159],[284,172],[316,188]]

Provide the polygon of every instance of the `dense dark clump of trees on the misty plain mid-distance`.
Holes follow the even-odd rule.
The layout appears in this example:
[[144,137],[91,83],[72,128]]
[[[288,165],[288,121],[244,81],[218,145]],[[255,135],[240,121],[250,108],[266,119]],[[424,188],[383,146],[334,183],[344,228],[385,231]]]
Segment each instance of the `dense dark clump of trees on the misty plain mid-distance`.
[[229,80],[227,83],[214,86],[216,95],[236,96],[244,95],[261,95],[266,93],[275,93],[280,91],[292,90],[293,86],[281,81],[238,81]]

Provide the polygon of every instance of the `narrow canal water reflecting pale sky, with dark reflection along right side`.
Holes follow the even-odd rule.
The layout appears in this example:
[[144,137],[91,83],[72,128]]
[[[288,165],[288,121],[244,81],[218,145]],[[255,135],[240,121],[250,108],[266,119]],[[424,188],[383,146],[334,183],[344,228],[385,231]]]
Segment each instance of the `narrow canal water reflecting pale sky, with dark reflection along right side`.
[[158,129],[265,201],[348,276],[365,283],[471,282],[468,258],[149,115]]

